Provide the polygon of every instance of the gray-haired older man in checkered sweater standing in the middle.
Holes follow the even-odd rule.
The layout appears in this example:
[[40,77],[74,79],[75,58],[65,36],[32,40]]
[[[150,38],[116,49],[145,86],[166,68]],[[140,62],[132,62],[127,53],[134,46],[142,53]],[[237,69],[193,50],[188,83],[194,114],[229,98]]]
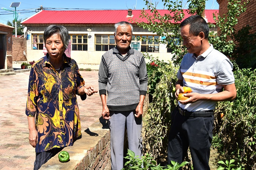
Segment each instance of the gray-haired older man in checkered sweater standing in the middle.
[[99,94],[102,117],[110,127],[111,167],[112,170],[120,170],[123,168],[125,127],[129,150],[142,156],[141,128],[147,68],[143,54],[130,47],[132,25],[119,22],[114,27],[116,47],[102,55]]

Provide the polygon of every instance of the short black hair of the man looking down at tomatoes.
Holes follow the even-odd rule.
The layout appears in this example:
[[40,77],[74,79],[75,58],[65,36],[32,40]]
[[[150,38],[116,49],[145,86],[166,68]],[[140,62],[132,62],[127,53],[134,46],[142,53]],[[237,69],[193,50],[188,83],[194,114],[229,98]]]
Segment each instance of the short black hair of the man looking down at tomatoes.
[[206,20],[199,15],[192,15],[186,18],[184,21],[181,22],[180,27],[184,27],[186,25],[190,25],[189,27],[189,34],[194,36],[199,35],[200,32],[204,33],[204,38],[208,39],[209,35],[209,26]]

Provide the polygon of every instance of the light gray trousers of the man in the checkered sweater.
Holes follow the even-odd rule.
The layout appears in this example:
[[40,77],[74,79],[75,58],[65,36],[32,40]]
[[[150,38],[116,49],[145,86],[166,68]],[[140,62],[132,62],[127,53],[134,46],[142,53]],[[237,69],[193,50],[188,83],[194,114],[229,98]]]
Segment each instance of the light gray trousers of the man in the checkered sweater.
[[109,111],[110,156],[112,170],[121,170],[124,166],[124,134],[127,127],[128,148],[140,158],[142,156],[142,116],[137,118],[133,111]]

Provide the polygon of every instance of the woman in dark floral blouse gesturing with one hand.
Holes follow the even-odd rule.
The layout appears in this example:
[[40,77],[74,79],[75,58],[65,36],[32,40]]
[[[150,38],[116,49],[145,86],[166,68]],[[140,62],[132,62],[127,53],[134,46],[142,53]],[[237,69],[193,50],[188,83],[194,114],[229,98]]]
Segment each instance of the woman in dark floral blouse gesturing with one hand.
[[77,63],[64,53],[68,47],[65,27],[48,26],[44,43],[48,53],[31,68],[26,107],[36,170],[81,137],[76,94],[85,100],[86,94],[97,93],[92,85],[84,85]]

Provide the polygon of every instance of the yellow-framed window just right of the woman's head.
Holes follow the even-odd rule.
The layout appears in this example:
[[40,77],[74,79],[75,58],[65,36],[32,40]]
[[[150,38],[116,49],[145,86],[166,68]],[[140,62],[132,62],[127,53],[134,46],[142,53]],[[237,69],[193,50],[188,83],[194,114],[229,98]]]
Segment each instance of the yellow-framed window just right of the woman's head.
[[71,50],[72,51],[87,51],[87,34],[71,34],[68,36],[69,40],[71,40]]

